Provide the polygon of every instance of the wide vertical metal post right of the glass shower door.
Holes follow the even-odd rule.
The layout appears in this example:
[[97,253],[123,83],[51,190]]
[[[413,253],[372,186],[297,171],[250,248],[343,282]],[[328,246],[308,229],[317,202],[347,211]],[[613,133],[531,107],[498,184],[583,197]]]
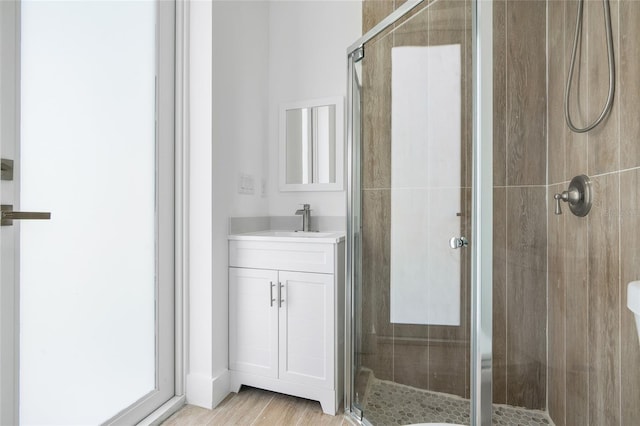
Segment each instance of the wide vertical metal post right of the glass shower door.
[[493,2],[472,0],[471,424],[493,411]]

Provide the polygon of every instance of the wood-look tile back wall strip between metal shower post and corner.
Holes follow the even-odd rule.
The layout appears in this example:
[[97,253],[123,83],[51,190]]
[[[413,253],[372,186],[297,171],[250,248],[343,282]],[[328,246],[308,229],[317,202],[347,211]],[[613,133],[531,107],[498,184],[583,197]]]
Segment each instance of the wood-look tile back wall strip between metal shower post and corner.
[[493,401],[546,407],[546,5],[494,1]]

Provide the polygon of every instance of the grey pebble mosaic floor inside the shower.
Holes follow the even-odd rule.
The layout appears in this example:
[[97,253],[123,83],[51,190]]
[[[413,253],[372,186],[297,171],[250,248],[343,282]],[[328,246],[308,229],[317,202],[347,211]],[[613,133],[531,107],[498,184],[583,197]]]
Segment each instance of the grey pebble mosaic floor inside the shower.
[[[469,424],[469,400],[411,386],[369,378],[362,401],[364,416],[375,426],[414,423]],[[493,405],[493,424],[504,426],[553,425],[547,413],[508,405]]]

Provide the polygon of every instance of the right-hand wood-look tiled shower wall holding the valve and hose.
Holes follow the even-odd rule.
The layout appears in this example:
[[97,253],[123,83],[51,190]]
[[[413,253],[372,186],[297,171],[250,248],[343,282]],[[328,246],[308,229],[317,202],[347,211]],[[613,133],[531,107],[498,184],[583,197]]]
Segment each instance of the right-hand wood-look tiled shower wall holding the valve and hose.
[[[586,134],[571,133],[563,116],[576,5],[547,3],[549,412],[558,426],[637,425],[640,345],[626,286],[640,279],[640,2],[610,2],[616,95],[607,120]],[[571,100],[578,123],[607,96],[602,13],[602,2],[585,2],[580,94]],[[553,194],[578,174],[593,181],[591,212],[554,215]]]

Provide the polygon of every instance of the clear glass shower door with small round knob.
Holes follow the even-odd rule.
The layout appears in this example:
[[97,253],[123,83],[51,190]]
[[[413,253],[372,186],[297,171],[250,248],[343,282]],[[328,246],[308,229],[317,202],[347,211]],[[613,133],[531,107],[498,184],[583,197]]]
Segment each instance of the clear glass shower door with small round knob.
[[469,424],[471,2],[419,5],[352,55],[351,404]]

